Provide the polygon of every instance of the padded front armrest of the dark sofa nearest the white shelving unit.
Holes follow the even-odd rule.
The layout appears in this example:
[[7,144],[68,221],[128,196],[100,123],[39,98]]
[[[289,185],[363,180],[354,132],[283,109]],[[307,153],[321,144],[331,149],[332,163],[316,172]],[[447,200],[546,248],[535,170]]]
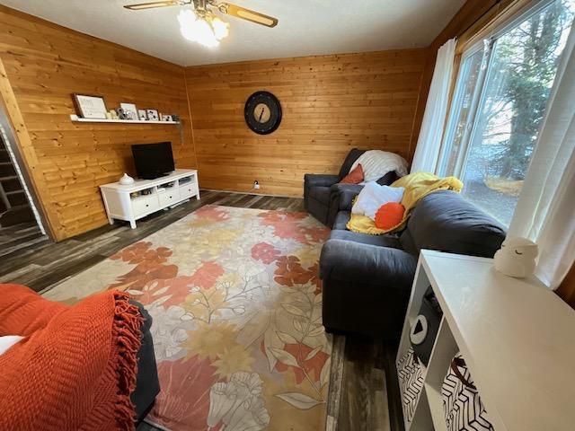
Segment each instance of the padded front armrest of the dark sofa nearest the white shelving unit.
[[328,240],[320,257],[320,278],[411,290],[416,267],[417,258],[403,250]]

